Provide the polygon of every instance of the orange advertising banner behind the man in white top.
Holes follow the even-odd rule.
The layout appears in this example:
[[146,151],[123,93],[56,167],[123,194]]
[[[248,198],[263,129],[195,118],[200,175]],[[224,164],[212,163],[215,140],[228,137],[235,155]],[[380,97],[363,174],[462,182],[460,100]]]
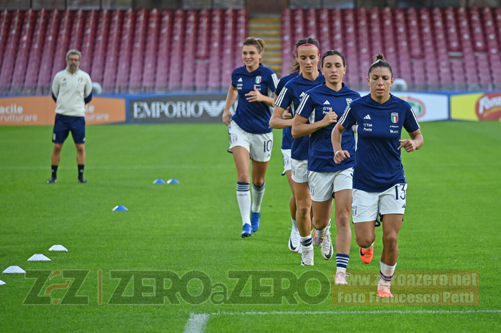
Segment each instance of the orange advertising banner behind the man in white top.
[[[56,103],[49,96],[0,98],[0,126],[53,125]],[[94,97],[85,106],[86,124],[125,122],[125,99]]]

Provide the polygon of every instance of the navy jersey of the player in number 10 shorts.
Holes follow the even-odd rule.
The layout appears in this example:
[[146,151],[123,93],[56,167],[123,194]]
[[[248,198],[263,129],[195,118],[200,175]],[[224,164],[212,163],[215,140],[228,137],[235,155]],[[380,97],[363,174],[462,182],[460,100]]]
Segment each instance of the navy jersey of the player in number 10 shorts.
[[249,103],[245,94],[256,87],[261,94],[270,96],[275,92],[278,81],[275,72],[261,64],[251,73],[245,66],[235,69],[231,73],[231,85],[237,89],[238,105],[231,120],[248,133],[270,133],[272,131],[269,125],[272,116],[270,106],[265,102]]

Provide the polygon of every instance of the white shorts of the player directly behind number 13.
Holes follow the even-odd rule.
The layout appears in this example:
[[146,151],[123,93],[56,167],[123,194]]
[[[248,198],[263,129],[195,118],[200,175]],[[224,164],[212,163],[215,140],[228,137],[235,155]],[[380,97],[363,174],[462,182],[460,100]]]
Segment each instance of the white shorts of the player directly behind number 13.
[[308,185],[313,201],[332,199],[333,193],[353,188],[353,168],[332,172],[308,171]]

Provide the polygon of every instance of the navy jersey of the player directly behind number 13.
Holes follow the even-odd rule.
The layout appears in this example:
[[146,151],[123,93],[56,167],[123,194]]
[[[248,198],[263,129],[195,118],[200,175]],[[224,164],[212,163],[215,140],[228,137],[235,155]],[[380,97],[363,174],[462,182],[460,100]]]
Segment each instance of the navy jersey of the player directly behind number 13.
[[[339,91],[332,90],[324,84],[308,90],[301,100],[296,114],[307,118],[311,124],[321,121],[332,109],[338,118],[350,103],[360,97],[343,83]],[[355,166],[355,136],[351,127],[343,132],[342,148],[350,152],[350,158],[341,164],[334,163],[331,133],[336,123],[321,128],[310,134],[308,149],[308,170],[317,172],[332,172]]]

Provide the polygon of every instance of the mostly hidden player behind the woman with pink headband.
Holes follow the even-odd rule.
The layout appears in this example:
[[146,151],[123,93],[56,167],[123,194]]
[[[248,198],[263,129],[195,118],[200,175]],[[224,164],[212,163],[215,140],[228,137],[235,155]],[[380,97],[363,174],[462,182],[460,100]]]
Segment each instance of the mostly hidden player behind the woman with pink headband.
[[[300,44],[301,45],[301,44]],[[298,45],[299,46],[299,45]],[[277,90],[275,91],[275,101],[280,95],[282,89],[287,82],[296,78],[299,74],[301,74],[299,63],[297,60],[294,61],[294,64],[291,67],[291,73],[282,77],[277,85]],[[282,114],[282,119],[291,119],[292,112],[288,109]],[[289,183],[289,187],[291,188],[292,196],[289,200],[289,208],[291,210],[291,220],[292,220],[292,228],[291,228],[291,236],[289,237],[289,250],[291,252],[301,252],[301,246],[299,243],[299,231],[298,225],[296,224],[296,195],[294,194],[294,184],[292,181],[292,171],[291,171],[291,142],[292,142],[292,134],[291,128],[285,127],[282,130],[282,146],[280,149],[282,150],[282,156],[284,160],[284,172],[283,175],[287,176],[287,182]]]

